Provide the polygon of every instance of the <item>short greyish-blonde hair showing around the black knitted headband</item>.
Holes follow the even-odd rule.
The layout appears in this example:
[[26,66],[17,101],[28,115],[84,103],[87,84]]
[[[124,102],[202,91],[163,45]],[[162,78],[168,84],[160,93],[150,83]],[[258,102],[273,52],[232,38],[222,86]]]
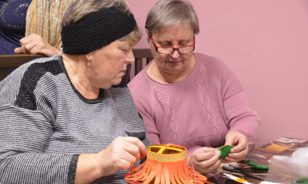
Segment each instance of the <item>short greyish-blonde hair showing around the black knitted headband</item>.
[[[96,12],[102,8],[115,8],[119,11],[131,13],[126,0],[75,0],[68,6],[62,18],[61,26],[62,28],[66,27],[69,24],[75,23],[82,19],[84,16]],[[130,43],[136,44],[141,39],[141,36],[142,31],[136,25],[132,32],[120,38],[119,40],[129,40]]]

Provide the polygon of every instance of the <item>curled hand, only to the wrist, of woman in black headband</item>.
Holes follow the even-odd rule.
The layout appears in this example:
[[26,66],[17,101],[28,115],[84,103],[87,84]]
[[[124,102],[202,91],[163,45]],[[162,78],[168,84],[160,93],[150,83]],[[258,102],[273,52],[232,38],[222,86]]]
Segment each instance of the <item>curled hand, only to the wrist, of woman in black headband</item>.
[[139,138],[118,137],[97,155],[97,167],[102,176],[115,173],[119,168],[128,169],[146,156],[146,148]]

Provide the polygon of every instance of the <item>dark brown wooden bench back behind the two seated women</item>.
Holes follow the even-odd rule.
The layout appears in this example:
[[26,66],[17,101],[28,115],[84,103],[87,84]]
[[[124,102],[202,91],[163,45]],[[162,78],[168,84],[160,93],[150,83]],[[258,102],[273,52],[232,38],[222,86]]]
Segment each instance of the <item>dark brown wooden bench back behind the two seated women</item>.
[[[148,64],[153,58],[149,48],[135,48],[133,50],[135,56],[135,75],[144,67],[142,60],[145,58]],[[45,57],[37,54],[19,54],[19,55],[0,55],[0,81],[4,79],[9,73],[9,68],[17,68],[31,60]],[[123,77],[122,82],[125,84],[130,81],[131,66],[127,67],[126,75]]]

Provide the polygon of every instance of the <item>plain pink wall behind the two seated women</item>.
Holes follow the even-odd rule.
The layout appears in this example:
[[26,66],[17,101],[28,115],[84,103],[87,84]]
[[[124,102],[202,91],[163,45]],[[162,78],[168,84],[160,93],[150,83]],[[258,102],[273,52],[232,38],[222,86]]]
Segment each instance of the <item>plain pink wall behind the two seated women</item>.
[[[158,0],[128,0],[144,30]],[[308,139],[308,1],[190,0],[200,33],[196,51],[233,69],[261,117],[262,145],[280,137]],[[136,48],[149,47],[145,31]]]

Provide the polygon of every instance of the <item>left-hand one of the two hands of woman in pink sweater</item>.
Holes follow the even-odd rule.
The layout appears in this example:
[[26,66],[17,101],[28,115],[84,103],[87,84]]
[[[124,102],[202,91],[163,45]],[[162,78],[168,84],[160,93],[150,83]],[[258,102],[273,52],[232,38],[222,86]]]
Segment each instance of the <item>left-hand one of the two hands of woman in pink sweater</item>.
[[201,174],[215,172],[222,161],[215,155],[215,148],[203,147],[194,151],[192,155],[195,170]]

